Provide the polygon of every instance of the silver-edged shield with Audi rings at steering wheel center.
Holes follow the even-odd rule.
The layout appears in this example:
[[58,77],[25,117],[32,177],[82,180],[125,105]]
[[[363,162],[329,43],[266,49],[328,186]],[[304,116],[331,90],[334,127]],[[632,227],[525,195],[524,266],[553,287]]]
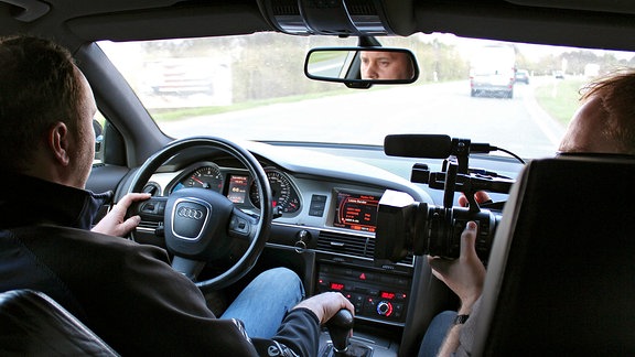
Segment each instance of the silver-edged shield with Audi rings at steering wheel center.
[[174,235],[187,240],[201,238],[208,215],[209,208],[202,204],[185,199],[176,202],[172,218]]

